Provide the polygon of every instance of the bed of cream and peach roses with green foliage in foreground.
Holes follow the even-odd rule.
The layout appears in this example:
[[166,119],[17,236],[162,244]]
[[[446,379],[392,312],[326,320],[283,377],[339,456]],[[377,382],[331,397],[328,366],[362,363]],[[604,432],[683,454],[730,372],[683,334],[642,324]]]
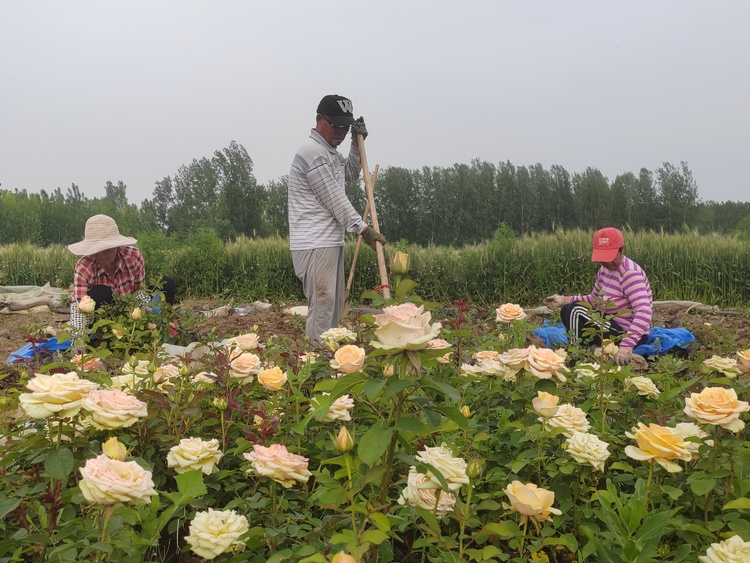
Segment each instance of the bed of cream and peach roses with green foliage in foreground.
[[105,345],[6,398],[0,561],[747,557],[750,351],[634,373],[529,345],[513,304],[411,299],[320,350],[165,357],[169,311],[93,319]]

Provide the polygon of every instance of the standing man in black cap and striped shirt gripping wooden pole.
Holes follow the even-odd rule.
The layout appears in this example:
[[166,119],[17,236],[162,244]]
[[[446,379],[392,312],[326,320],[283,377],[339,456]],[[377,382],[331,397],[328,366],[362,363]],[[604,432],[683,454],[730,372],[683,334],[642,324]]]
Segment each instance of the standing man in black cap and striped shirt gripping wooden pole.
[[[336,148],[351,130],[349,157]],[[289,172],[289,246],[294,273],[308,301],[305,331],[311,343],[337,327],[344,304],[344,232],[358,233],[372,248],[386,239],[362,221],[346,197],[346,182],[362,168],[357,135],[367,137],[362,117],[354,119],[352,102],[324,96],[318,104],[315,129],[299,148]]]

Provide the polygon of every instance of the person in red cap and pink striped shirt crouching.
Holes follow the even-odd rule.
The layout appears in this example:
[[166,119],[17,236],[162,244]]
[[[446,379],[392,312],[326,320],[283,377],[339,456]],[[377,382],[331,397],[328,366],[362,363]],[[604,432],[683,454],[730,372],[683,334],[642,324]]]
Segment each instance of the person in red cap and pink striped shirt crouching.
[[[643,268],[622,253],[624,248],[625,241],[618,229],[607,227],[597,231],[591,261],[599,262],[600,268],[594,289],[588,295],[547,298],[562,306],[560,318],[569,334],[592,344],[601,344],[602,338],[621,338],[614,358],[621,365],[630,363],[633,348],[646,342],[653,314],[648,277]],[[603,324],[601,319],[592,318],[592,310],[603,313]],[[592,329],[595,336],[584,336],[585,329]]]

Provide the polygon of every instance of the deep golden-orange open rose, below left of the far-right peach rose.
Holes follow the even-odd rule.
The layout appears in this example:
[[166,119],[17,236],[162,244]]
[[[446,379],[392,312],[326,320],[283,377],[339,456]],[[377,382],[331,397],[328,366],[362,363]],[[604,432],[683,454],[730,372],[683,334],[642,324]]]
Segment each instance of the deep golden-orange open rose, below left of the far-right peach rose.
[[638,447],[627,446],[625,455],[628,457],[638,461],[653,460],[670,473],[682,471],[682,467],[673,460],[690,461],[692,458],[692,452],[685,445],[683,435],[674,428],[658,424],[646,426],[639,422],[638,427],[633,427],[632,431],[634,434],[625,432],[625,435],[635,439]]

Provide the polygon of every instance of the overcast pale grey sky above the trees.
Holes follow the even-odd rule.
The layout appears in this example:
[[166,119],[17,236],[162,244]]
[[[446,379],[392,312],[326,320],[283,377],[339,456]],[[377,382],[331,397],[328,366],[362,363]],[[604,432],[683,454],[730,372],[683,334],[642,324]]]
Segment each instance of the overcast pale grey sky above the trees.
[[371,168],[686,161],[703,200],[750,201],[749,23],[747,0],[0,0],[0,188],[140,204],[232,140],[275,180],[337,93]]

